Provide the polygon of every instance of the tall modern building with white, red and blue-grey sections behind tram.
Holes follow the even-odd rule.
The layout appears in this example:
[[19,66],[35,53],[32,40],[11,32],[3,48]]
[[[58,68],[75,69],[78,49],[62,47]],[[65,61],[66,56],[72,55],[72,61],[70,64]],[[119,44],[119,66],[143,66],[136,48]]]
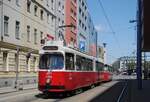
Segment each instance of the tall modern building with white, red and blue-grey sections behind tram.
[[[65,25],[75,27],[60,27]],[[56,0],[56,39],[97,56],[97,31],[86,0]]]

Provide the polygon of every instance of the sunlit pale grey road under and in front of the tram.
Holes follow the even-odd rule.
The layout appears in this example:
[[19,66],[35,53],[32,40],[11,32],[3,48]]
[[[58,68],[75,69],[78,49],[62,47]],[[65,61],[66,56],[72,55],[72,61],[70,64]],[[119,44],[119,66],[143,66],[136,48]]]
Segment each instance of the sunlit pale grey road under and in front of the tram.
[[[46,96],[39,92],[37,89],[24,90],[19,92],[13,92],[8,94],[0,94],[0,102],[100,102],[102,93],[108,93],[113,96],[113,93],[109,93],[110,87],[119,87],[120,82],[111,81],[103,83],[93,89],[88,89],[80,94],[64,97],[61,94]],[[121,82],[122,83],[122,82]],[[110,88],[111,89],[111,88]],[[120,92],[120,91],[119,91]],[[118,92],[118,93],[119,93]],[[116,94],[118,94],[116,93]],[[104,98],[107,98],[103,96]],[[101,101],[101,102],[113,102],[113,101]]]

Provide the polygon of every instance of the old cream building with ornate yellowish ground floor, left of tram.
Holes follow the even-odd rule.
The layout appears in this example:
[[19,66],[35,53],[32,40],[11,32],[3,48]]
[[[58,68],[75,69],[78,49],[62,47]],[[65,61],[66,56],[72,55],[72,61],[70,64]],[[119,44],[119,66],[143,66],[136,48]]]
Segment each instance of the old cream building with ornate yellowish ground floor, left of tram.
[[0,8],[0,87],[18,73],[23,83],[34,83],[40,41],[55,37],[55,0],[1,0]]

